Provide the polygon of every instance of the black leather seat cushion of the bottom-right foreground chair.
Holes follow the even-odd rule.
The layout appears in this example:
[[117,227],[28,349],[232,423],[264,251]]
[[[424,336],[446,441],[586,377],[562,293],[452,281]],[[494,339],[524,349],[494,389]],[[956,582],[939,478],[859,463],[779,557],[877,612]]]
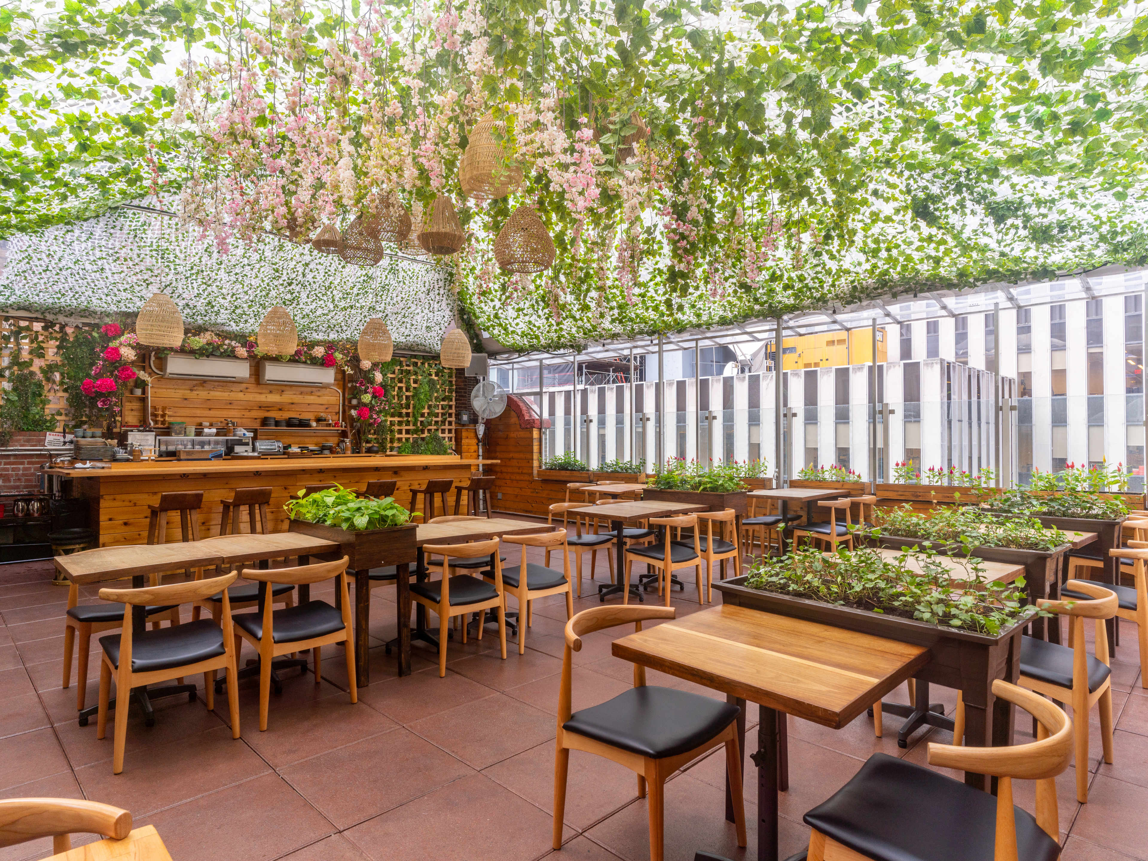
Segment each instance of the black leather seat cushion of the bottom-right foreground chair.
[[[1019,807],[1017,855],[1055,861],[1061,847]],[[805,823],[875,861],[992,861],[996,799],[952,777],[871,755],[853,778],[805,814]]]

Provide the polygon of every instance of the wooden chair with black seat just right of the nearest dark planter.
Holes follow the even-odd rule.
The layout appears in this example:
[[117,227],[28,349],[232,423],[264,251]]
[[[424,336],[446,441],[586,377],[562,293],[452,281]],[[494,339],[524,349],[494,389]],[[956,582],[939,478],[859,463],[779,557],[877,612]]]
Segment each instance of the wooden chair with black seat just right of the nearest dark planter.
[[[1117,597],[1107,587],[1084,580],[1070,580],[1062,592],[1068,600],[1039,602],[1041,610],[1069,616],[1069,643],[1062,646],[1035,637],[1021,637],[1022,688],[1044,693],[1057,703],[1072,704],[1076,721],[1077,800],[1088,801],[1088,709],[1099,705],[1100,737],[1104,761],[1112,762],[1112,691],[1108,666],[1106,619],[1116,615]],[[1079,596],[1079,597],[1076,597]],[[1088,654],[1084,620],[1096,620],[1094,650]],[[964,704],[961,703],[962,709]],[[963,721],[962,721],[963,723]]]

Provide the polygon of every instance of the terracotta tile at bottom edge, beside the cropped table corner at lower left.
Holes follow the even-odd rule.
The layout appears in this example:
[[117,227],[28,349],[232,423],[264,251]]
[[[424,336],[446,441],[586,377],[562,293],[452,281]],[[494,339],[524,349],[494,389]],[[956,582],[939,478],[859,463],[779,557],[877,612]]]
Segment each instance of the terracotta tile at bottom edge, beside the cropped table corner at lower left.
[[271,861],[334,828],[274,774],[227,786],[138,821],[155,825],[172,858]]

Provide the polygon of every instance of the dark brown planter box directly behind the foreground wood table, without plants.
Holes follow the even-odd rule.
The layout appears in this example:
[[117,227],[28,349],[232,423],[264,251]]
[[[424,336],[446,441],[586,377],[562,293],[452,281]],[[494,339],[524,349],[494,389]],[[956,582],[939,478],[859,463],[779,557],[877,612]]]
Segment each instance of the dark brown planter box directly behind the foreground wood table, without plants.
[[[998,636],[974,634],[915,619],[765,592],[745,585],[746,577],[714,582],[724,604],[807,619],[846,630],[872,634],[929,649],[930,661],[916,677],[963,691],[965,744],[1002,747],[1013,743],[1013,708],[992,693],[996,678],[1016,683],[1021,672],[1021,631],[1014,625]],[[983,775],[965,773],[965,783],[987,789]]]

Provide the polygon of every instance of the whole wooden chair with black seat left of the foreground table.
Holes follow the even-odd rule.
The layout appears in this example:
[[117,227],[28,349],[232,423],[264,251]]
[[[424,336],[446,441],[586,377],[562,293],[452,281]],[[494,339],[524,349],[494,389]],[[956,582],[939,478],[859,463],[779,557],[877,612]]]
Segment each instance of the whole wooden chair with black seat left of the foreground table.
[[[642,630],[646,619],[673,619],[673,607],[623,607],[616,604],[583,610],[566,622],[561,687],[558,691],[558,738],[554,742],[553,847],[563,845],[566,776],[571,751],[585,751],[626,766],[638,776],[638,798],[650,793],[650,859],[665,858],[665,785],[678,768],[715,747],[726,747],[726,771],[734,802],[737,845],[745,846],[742,800],[742,757],[738,752],[738,707],[673,688],[647,687],[645,667],[634,665],[634,688],[589,708],[572,712],[573,654],[582,637],[628,622]],[[705,739],[700,743],[698,739]]]

